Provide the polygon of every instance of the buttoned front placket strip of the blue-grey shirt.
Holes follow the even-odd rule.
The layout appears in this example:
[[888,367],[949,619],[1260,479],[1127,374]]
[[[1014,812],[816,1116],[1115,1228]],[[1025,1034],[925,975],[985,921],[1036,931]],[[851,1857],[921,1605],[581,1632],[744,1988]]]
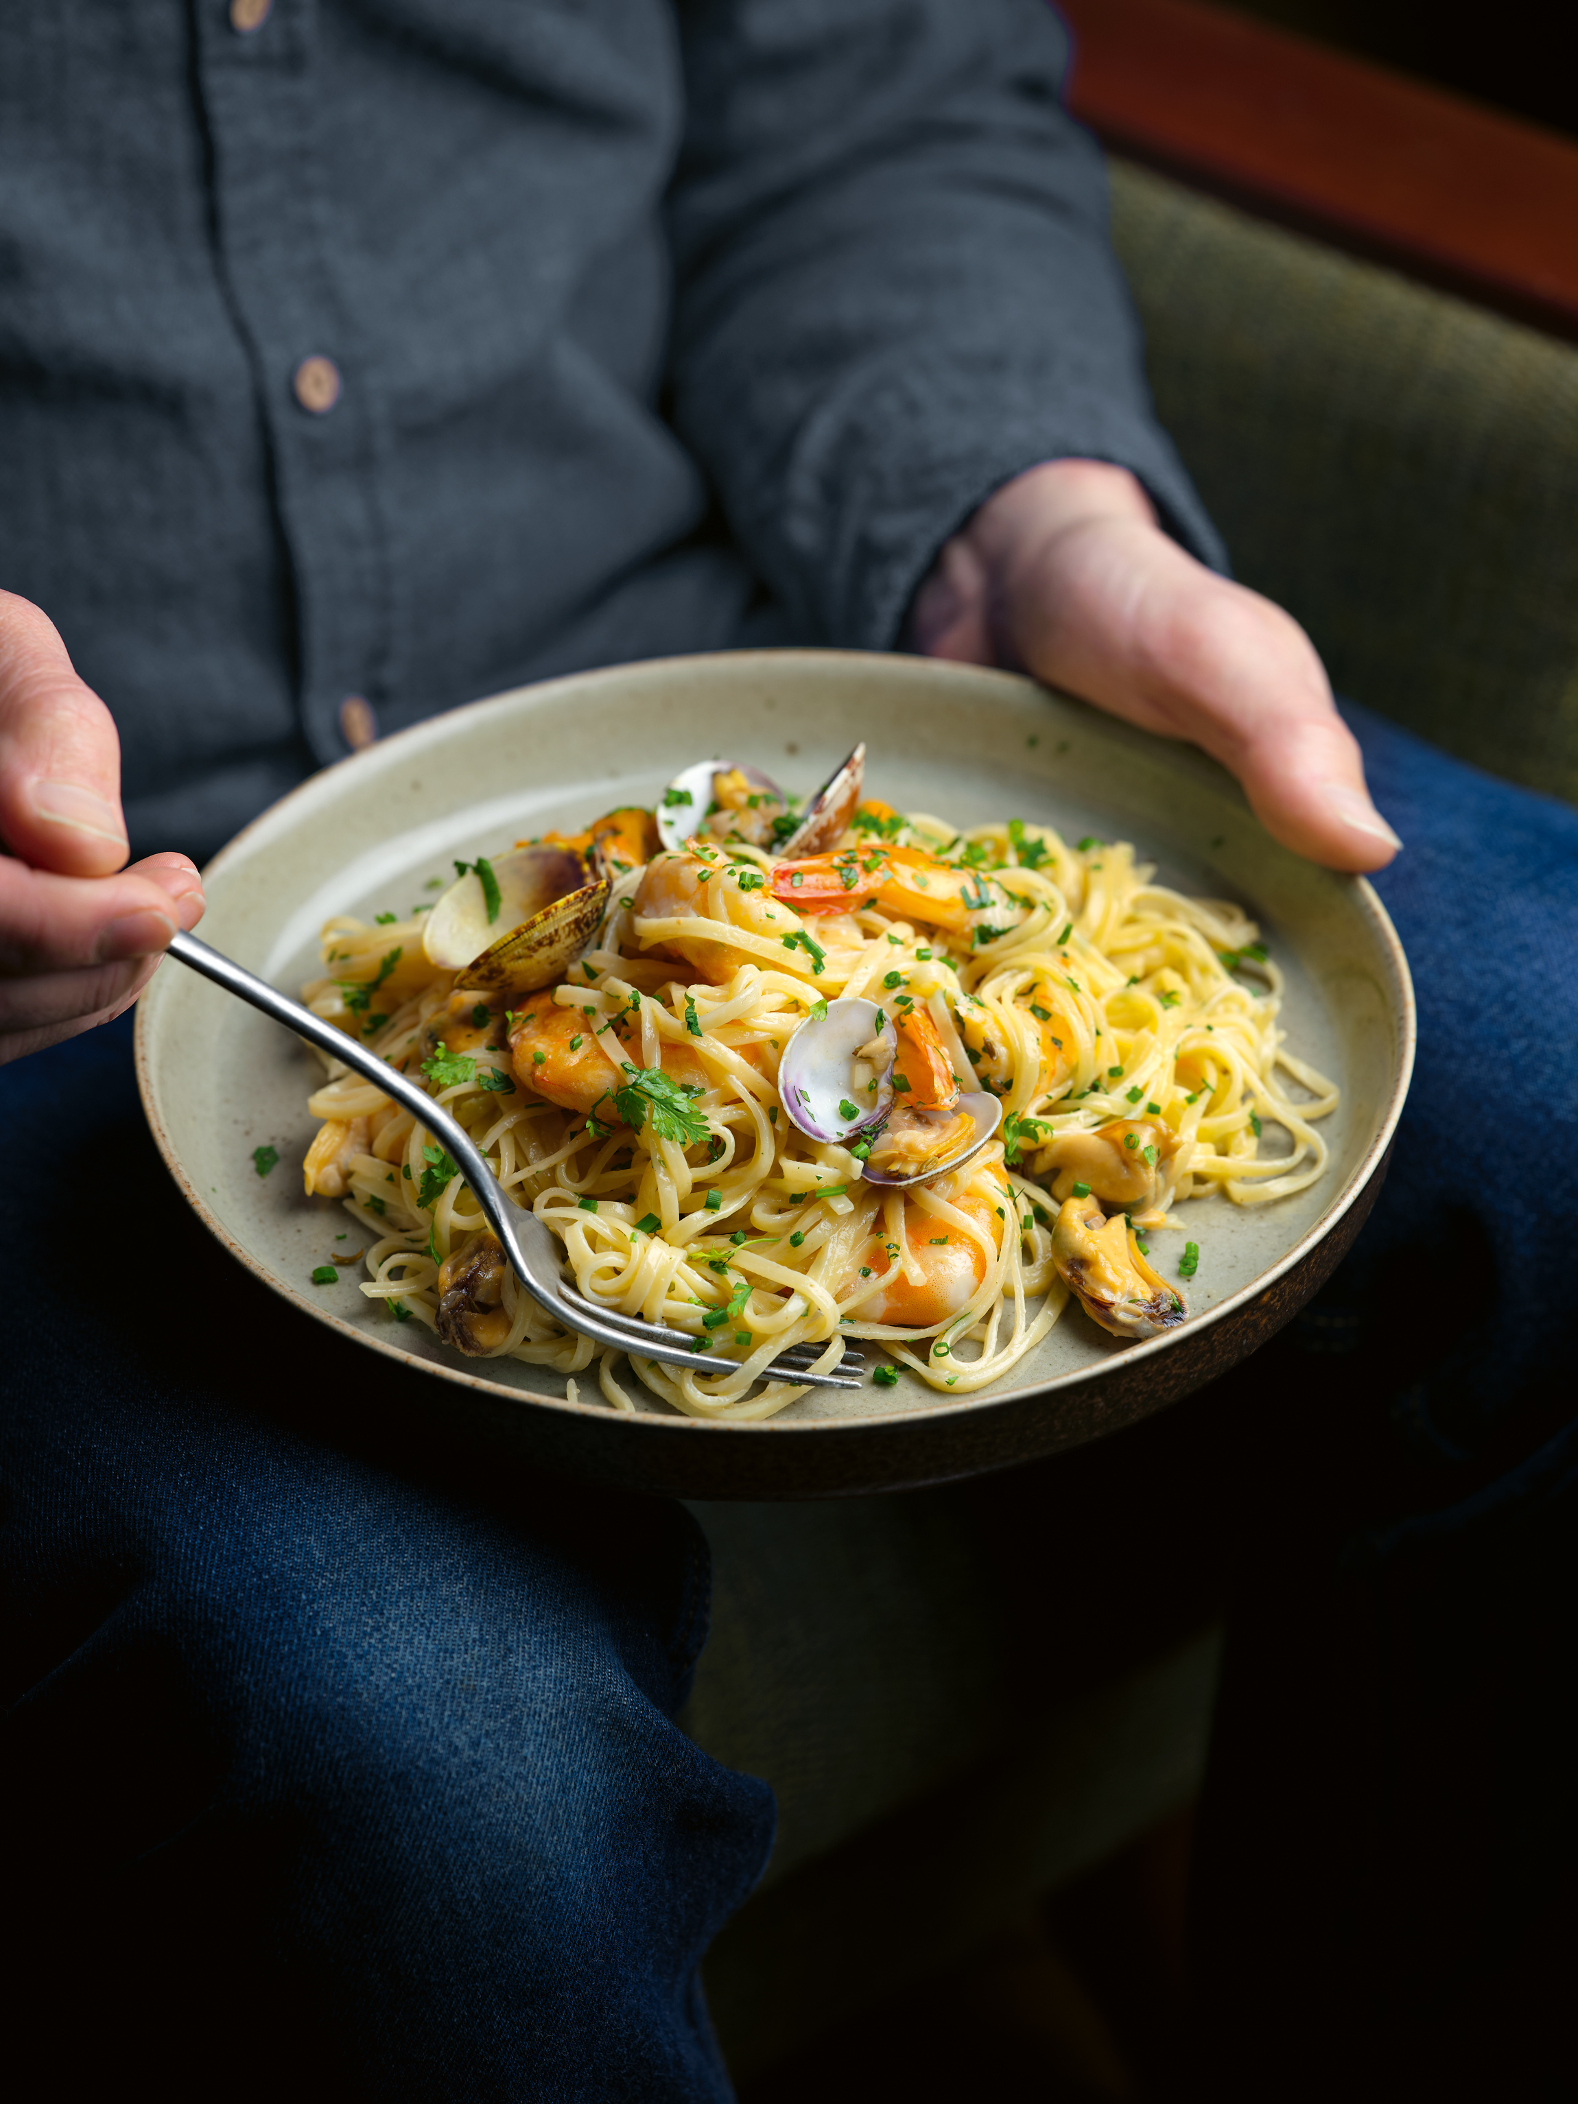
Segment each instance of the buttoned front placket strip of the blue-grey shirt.
[[217,265],[252,358],[290,551],[301,724],[320,762],[372,736],[391,585],[377,370],[332,267],[316,0],[198,0]]

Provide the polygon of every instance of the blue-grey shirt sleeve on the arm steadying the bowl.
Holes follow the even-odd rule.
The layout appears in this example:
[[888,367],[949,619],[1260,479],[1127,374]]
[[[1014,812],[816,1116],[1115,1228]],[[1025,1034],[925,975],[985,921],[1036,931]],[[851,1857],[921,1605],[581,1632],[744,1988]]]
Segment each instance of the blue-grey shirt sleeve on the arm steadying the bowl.
[[808,638],[892,648],[936,549],[1039,461],[1132,469],[1212,566],[1159,429],[1044,0],[680,0],[671,417]]

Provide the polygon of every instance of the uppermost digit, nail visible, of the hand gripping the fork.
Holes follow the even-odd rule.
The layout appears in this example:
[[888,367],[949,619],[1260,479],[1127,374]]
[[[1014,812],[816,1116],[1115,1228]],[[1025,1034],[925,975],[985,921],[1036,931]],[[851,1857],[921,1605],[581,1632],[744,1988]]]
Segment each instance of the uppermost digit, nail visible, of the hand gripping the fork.
[[36,869],[105,877],[126,861],[120,739],[53,621],[0,591],[0,839]]

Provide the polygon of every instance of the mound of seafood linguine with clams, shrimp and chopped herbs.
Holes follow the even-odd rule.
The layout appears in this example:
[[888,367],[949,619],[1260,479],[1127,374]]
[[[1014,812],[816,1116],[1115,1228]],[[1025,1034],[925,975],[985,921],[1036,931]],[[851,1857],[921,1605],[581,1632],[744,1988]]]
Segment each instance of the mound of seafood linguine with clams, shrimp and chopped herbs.
[[1164,1334],[1201,1262],[1191,1199],[1302,1191],[1338,1100],[1283,1044],[1237,907],[1124,842],[892,810],[863,749],[804,806],[713,760],[654,812],[457,863],[408,911],[330,919],[303,991],[421,1075],[581,1294],[739,1372],[558,1326],[431,1134],[330,1063],[305,1182],[368,1237],[362,1292],[621,1410],[640,1380],[768,1418],[806,1393],[770,1361],[823,1344],[831,1372],[846,1336],[882,1347],[882,1387],[968,1395],[1069,1300]]

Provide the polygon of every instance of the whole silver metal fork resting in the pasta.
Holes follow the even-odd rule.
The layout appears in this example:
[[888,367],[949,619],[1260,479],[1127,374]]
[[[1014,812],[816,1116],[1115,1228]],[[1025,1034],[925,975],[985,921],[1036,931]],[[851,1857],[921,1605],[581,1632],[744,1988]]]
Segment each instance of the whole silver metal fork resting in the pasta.
[[[179,957],[181,964],[189,966],[194,972],[202,972],[204,978],[213,978],[217,987],[227,993],[238,993],[252,1008],[261,1008],[265,1016],[274,1016],[276,1023],[284,1023],[286,1029],[316,1044],[330,1058],[341,1060],[356,1073],[364,1075],[396,1102],[404,1105],[419,1124],[423,1124],[433,1138],[448,1149],[450,1157],[459,1164],[461,1174],[469,1182],[478,1206],[488,1218],[494,1235],[499,1237],[505,1256],[509,1258],[515,1277],[532,1296],[532,1300],[566,1326],[566,1330],[579,1330],[583,1336],[593,1338],[598,1344],[614,1344],[619,1351],[635,1351],[644,1359],[661,1359],[665,1365],[688,1365],[699,1374],[739,1374],[736,1359],[720,1359],[701,1347],[701,1338],[694,1342],[684,1330],[673,1330],[667,1323],[642,1321],[635,1315],[623,1315],[619,1309],[604,1309],[591,1300],[585,1300],[572,1286],[566,1286],[562,1273],[560,1246],[553,1233],[537,1218],[537,1214],[526,1212],[518,1206],[503,1189],[499,1178],[492,1174],[488,1164],[482,1159],[480,1149],[467,1134],[465,1126],[448,1111],[440,1109],[438,1102],[412,1081],[408,1075],[400,1073],[398,1067],[385,1065],[377,1052],[368,1052],[366,1046],[356,1044],[345,1031],[335,1029],[332,1023],[324,1023],[309,1008],[292,1002],[284,993],[276,993],[265,980],[255,978],[252,972],[242,970],[240,964],[231,964],[217,949],[206,943],[198,943],[196,936],[177,934],[170,943],[170,957]],[[793,1380],[795,1387],[808,1389],[858,1389],[865,1376],[865,1357],[858,1351],[850,1351],[844,1344],[844,1359],[833,1374],[812,1374],[806,1370],[810,1359],[818,1359],[827,1351],[823,1344],[791,1344],[783,1357],[774,1359],[772,1365],[762,1374],[762,1380]]]

